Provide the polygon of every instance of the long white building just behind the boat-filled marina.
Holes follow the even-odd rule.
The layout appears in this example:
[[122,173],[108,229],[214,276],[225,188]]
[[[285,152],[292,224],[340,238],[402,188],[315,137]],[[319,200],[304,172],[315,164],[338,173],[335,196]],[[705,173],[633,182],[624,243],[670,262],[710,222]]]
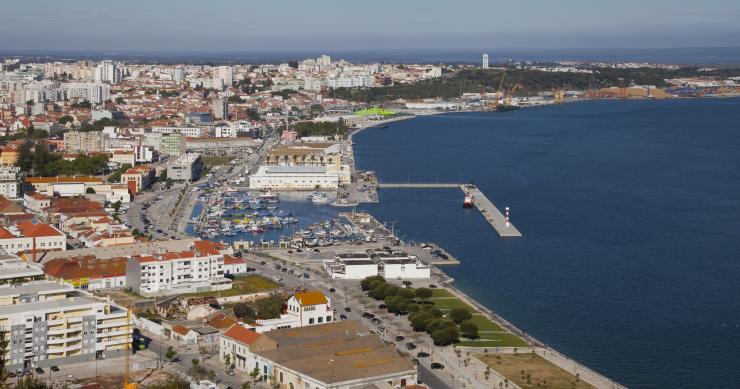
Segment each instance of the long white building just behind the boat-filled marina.
[[260,166],[249,178],[255,189],[336,190],[339,175],[326,166]]

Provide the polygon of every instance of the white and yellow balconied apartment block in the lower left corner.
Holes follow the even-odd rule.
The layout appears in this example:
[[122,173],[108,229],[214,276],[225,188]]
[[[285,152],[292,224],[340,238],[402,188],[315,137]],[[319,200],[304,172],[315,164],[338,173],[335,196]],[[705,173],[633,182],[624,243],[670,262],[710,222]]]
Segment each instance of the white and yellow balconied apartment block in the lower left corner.
[[132,341],[125,308],[51,281],[0,286],[0,331],[9,371],[124,356]]

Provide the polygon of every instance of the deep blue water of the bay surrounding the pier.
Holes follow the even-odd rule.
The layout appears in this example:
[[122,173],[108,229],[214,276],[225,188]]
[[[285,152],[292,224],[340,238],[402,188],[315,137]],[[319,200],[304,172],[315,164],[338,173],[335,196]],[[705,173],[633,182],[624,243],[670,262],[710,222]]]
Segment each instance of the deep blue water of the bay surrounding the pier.
[[398,122],[355,138],[385,182],[474,181],[367,206],[462,264],[456,285],[636,388],[740,386],[740,100],[598,101]]

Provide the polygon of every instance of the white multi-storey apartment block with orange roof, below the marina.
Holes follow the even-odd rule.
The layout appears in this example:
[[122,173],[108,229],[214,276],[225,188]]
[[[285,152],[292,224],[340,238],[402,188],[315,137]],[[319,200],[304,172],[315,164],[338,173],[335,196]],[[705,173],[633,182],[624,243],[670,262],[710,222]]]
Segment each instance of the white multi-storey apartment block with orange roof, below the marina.
[[218,252],[168,252],[137,255],[126,264],[126,285],[143,296],[231,289]]

